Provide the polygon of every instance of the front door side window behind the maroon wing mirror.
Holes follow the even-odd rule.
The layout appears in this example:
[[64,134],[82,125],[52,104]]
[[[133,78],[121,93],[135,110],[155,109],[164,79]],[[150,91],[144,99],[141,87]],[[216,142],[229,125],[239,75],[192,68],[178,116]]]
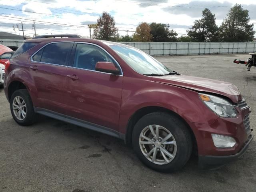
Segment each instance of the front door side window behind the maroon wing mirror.
[[114,63],[114,60],[97,46],[77,44],[73,67],[95,71],[95,65],[100,61]]

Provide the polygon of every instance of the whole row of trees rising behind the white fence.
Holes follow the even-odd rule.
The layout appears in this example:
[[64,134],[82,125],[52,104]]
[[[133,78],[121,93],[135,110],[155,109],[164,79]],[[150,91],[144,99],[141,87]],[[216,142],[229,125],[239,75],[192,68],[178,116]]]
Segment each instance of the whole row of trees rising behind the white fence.
[[93,36],[96,39],[120,42],[251,42],[254,38],[254,24],[249,24],[249,11],[236,4],[230,8],[220,27],[216,17],[208,8],[202,11],[202,18],[194,21],[187,35],[178,37],[166,24],[142,22],[132,36],[120,36],[114,17],[103,12],[97,20]]

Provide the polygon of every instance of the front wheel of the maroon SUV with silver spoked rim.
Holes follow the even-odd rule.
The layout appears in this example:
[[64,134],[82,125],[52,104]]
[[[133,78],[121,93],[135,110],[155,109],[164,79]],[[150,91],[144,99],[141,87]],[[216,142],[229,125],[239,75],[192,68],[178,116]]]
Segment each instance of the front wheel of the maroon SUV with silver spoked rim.
[[[151,129],[153,128],[155,135],[152,134],[150,127]],[[158,139],[156,134],[157,127],[159,130]],[[141,143],[148,142],[148,140],[142,138],[142,135],[144,137],[146,134],[148,134],[147,139],[150,138],[150,144],[142,145]],[[152,136],[150,137],[150,135]],[[170,135],[172,137],[164,141]],[[154,136],[156,136],[156,142],[153,141]],[[159,140],[162,144],[158,142]],[[152,142],[153,144],[151,144]],[[159,172],[180,170],[186,164],[192,152],[192,138],[186,124],[177,116],[164,112],[150,113],[138,120],[132,132],[132,145],[138,158],[146,166]],[[155,148],[157,149],[156,158],[153,158]],[[147,152],[149,154],[151,150],[153,150],[152,155],[146,157],[145,154]],[[171,155],[168,156],[169,154],[166,151]]]

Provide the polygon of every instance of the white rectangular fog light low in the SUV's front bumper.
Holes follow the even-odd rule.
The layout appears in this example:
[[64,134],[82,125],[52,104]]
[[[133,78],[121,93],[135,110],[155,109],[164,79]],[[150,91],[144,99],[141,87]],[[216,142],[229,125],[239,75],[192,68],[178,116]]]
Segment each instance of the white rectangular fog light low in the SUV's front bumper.
[[214,145],[218,148],[232,148],[236,140],[230,136],[212,134]]

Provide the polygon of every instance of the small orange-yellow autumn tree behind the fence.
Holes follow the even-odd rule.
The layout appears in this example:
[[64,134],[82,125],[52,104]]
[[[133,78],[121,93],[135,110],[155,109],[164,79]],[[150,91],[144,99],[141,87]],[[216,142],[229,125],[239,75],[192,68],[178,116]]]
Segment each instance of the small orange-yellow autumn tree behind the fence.
[[152,34],[150,34],[150,25],[146,22],[140,23],[134,34],[134,41],[138,42],[150,42],[152,39]]

